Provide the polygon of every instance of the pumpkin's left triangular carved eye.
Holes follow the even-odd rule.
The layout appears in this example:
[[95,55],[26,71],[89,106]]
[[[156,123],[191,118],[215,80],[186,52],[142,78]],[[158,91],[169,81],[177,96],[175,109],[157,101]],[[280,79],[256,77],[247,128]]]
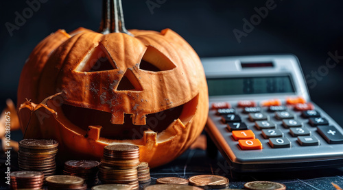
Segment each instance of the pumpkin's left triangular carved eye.
[[111,61],[108,53],[102,47],[102,44],[96,46],[80,63],[76,71],[80,72],[98,72],[104,70],[113,70],[117,67]]

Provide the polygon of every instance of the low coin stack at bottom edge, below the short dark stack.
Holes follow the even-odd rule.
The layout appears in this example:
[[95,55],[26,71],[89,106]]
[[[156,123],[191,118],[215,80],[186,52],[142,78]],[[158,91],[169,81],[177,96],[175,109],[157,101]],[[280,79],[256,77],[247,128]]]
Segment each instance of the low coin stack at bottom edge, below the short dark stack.
[[84,179],[78,176],[58,175],[45,178],[49,190],[86,190]]

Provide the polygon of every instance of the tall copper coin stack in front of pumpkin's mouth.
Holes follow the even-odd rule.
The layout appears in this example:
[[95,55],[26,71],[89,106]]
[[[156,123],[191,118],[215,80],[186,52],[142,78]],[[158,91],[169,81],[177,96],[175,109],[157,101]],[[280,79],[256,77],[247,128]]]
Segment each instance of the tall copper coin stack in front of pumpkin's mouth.
[[102,183],[131,185],[139,189],[137,167],[139,147],[130,144],[105,146],[104,158],[99,165],[99,179]]

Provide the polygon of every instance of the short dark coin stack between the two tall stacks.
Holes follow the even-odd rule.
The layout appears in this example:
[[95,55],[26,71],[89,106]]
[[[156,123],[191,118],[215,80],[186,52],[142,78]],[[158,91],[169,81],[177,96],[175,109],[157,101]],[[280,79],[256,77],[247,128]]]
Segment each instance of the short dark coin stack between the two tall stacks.
[[64,163],[63,174],[70,176],[78,176],[84,179],[84,182],[91,187],[97,184],[97,171],[99,162],[97,161],[66,161]]

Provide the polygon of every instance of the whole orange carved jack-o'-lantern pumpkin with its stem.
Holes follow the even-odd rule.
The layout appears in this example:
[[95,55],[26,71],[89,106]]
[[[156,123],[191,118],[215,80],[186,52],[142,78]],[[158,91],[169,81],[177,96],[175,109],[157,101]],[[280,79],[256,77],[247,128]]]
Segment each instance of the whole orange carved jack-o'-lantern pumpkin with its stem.
[[108,144],[134,144],[156,167],[204,128],[204,70],[171,29],[126,31],[113,2],[104,1],[99,33],[58,30],[32,51],[18,89],[21,129],[25,138],[56,139],[63,159],[99,159]]

